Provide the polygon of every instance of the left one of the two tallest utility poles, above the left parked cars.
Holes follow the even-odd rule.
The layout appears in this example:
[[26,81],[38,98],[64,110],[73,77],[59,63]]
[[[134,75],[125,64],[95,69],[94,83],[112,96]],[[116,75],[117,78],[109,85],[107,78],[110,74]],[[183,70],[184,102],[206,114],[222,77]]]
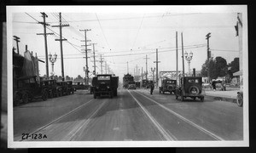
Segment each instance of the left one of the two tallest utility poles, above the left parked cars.
[[49,78],[47,35],[53,35],[54,33],[46,33],[46,26],[49,26],[49,24],[47,24],[47,23],[45,22],[45,18],[48,18],[48,15],[45,14],[44,12],[41,12],[41,14],[43,15],[42,17],[43,17],[43,19],[44,19],[44,22],[38,22],[38,23],[39,23],[39,24],[42,24],[42,25],[44,26],[44,33],[37,33],[37,35],[44,35],[46,76],[47,76],[47,78]]

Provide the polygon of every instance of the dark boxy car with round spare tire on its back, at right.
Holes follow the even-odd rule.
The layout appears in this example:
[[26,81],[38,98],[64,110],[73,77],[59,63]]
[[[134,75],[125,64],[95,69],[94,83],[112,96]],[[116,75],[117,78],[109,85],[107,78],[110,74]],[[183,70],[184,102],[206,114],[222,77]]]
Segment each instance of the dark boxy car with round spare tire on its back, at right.
[[180,81],[181,86],[175,91],[176,99],[180,96],[182,101],[187,97],[204,101],[201,77],[182,77]]

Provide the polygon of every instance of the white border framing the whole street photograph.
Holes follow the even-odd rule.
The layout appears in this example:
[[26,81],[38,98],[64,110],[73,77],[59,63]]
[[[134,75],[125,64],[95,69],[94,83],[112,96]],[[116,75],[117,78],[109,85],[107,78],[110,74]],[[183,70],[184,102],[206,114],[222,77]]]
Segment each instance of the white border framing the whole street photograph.
[[[132,8],[132,9],[131,9]],[[68,13],[242,13],[243,23],[243,138],[242,141],[48,141],[16,142],[13,129],[13,80],[12,80],[12,14],[20,12],[68,12]],[[248,127],[248,48],[247,48],[247,5],[206,6],[7,6],[7,58],[8,58],[8,147],[243,147],[249,146]]]

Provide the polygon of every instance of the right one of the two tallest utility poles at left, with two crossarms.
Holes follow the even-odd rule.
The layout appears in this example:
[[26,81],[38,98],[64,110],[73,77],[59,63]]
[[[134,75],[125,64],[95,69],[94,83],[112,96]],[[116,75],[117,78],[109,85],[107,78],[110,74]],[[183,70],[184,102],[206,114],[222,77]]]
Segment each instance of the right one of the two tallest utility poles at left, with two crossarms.
[[60,39],[55,39],[55,41],[60,41],[61,45],[61,76],[62,76],[62,81],[64,81],[65,76],[64,76],[64,62],[63,62],[63,49],[62,49],[62,41],[67,41],[67,39],[62,39],[62,26],[69,26],[68,24],[62,25],[61,23],[61,13],[59,14],[60,16],[60,25],[59,26],[52,26],[52,27],[60,27]]

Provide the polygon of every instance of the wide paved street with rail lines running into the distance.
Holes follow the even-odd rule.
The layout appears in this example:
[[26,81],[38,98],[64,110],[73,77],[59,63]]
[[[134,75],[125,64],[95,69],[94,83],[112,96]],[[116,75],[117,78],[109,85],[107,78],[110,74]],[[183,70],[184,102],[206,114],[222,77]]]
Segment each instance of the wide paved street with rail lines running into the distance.
[[14,109],[15,140],[41,133],[40,141],[242,140],[242,108],[205,99],[181,102],[174,95],[119,89],[118,97],[73,95]]

